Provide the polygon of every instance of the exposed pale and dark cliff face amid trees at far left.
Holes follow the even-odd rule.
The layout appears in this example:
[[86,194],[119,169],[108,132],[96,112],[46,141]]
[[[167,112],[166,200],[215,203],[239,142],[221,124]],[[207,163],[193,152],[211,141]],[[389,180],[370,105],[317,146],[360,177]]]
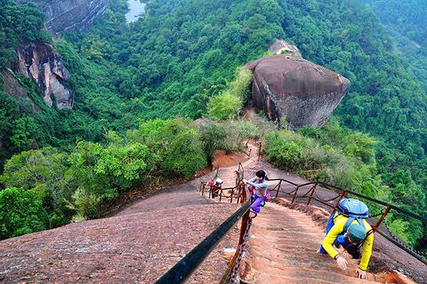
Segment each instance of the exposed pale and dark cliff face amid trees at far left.
[[36,81],[43,91],[47,106],[53,105],[54,98],[59,109],[73,107],[73,94],[64,86],[69,80],[68,70],[52,45],[29,43],[20,46],[17,53],[18,61],[13,64],[13,71]]

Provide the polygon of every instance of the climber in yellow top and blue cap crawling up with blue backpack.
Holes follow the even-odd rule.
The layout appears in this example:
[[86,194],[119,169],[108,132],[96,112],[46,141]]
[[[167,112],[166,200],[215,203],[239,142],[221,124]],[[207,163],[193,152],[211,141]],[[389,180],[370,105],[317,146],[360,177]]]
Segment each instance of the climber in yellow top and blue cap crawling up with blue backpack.
[[362,257],[359,269],[356,270],[359,279],[367,279],[367,264],[372,255],[374,233],[372,227],[365,220],[369,215],[367,205],[362,201],[344,198],[338,204],[338,209],[332,213],[326,226],[326,237],[323,240],[319,253],[328,254],[336,260],[338,267],[347,269],[347,260],[340,256],[336,248],[344,248],[359,259],[359,248],[362,248]]

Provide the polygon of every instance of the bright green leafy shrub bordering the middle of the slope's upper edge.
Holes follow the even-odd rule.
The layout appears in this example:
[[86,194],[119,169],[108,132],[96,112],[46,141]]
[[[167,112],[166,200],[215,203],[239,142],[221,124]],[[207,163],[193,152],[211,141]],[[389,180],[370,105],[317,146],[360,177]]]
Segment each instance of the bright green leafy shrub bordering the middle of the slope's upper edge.
[[110,145],[78,142],[69,157],[69,184],[75,189],[69,208],[81,218],[99,217],[117,198],[155,168],[156,155],[141,143]]

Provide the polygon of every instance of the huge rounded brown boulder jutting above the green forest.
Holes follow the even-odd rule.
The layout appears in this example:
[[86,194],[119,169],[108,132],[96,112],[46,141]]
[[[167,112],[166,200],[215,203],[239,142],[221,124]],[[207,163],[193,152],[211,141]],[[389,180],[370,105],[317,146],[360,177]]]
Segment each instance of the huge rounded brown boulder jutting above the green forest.
[[254,74],[254,106],[290,129],[320,127],[349,91],[350,81],[310,61],[285,54],[246,65]]

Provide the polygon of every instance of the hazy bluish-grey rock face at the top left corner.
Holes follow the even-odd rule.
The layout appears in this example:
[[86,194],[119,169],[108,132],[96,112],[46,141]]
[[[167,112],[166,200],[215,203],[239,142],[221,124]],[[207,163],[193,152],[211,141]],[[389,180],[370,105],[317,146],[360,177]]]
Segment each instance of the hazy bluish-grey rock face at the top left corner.
[[105,0],[15,0],[40,6],[47,17],[46,28],[57,34],[68,29],[88,28],[107,10]]

